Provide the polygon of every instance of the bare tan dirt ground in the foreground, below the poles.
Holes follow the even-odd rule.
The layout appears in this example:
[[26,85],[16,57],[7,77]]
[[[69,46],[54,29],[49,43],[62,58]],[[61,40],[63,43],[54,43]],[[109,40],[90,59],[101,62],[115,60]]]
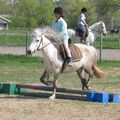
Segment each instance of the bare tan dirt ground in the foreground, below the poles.
[[1,120],[120,120],[120,103],[0,95]]

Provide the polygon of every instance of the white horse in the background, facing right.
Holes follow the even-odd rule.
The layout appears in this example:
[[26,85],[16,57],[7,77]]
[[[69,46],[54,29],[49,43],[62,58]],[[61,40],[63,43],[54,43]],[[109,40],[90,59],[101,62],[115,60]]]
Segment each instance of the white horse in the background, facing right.
[[[88,28],[88,31],[89,31],[88,37],[85,40],[86,45],[93,45],[94,44],[97,33],[103,33],[103,35],[107,34],[106,26],[105,26],[105,23],[103,21],[99,21],[99,22],[96,22],[95,24],[91,25]],[[76,31],[73,29],[68,29],[68,34],[71,37],[73,35],[76,35]]]

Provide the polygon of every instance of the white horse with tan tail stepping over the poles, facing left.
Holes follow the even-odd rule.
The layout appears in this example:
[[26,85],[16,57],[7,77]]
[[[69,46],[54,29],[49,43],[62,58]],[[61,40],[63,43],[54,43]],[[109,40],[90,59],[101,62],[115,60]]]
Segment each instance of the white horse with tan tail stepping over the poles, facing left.
[[[43,54],[43,63],[45,71],[48,75],[53,74],[53,95],[51,99],[55,98],[56,94],[56,81],[60,73],[76,71],[82,82],[82,88],[88,89],[89,80],[95,75],[97,78],[103,76],[104,72],[96,66],[97,51],[93,46],[84,44],[74,44],[79,50],[79,60],[75,60],[72,66],[64,64],[64,59],[60,52],[61,39],[59,34],[50,27],[37,28],[32,34],[32,43],[28,49],[28,54],[32,54],[41,50]],[[64,65],[64,70],[62,67]],[[88,80],[82,75],[85,71],[89,77]]]

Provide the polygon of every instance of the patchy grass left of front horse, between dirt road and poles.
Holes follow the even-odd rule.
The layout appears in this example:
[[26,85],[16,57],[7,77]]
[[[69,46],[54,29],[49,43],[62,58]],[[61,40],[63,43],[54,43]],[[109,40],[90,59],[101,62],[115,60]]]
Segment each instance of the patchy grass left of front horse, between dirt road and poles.
[[36,82],[43,65],[41,58],[31,56],[0,55],[1,82]]

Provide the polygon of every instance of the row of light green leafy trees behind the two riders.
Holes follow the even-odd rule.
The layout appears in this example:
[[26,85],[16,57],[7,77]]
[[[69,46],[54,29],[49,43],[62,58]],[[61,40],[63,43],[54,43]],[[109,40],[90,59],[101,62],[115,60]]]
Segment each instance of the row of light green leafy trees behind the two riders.
[[[7,1],[6,3],[4,1]],[[82,7],[88,9],[87,21],[92,24],[96,21],[94,0],[0,0],[3,4],[3,13],[8,14],[14,27],[38,27],[51,25],[54,19],[53,10],[56,6],[62,6],[65,11],[65,20],[68,27],[75,27]]]

